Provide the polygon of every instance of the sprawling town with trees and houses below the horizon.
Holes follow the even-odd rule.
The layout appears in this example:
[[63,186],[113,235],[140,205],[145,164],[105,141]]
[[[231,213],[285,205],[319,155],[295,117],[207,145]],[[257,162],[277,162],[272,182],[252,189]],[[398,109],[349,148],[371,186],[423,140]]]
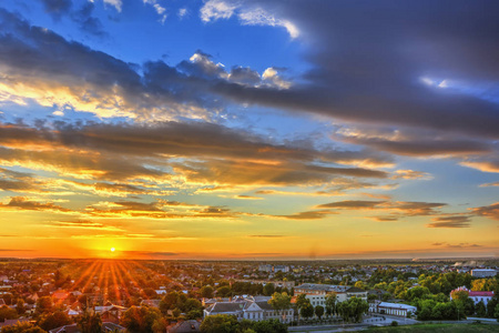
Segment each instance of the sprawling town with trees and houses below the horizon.
[[406,321],[493,323],[497,272],[493,260],[3,259],[0,332],[301,332]]

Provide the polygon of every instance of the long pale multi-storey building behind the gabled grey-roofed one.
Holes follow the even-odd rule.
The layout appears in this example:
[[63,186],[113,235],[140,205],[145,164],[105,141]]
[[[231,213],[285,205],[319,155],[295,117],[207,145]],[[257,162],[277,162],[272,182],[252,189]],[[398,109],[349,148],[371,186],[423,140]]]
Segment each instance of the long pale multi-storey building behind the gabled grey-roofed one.
[[295,296],[299,294],[306,294],[313,306],[325,306],[328,294],[336,294],[337,302],[345,302],[350,297],[367,301],[367,291],[348,285],[304,283],[295,287]]

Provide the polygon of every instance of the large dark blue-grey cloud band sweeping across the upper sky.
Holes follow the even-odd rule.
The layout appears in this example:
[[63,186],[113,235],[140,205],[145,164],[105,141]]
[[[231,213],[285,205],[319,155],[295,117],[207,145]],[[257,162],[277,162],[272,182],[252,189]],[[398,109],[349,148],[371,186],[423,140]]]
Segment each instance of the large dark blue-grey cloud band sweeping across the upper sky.
[[[314,51],[307,59],[313,70],[302,78],[306,83],[289,89],[248,85],[256,75],[247,70],[243,73],[242,69],[236,69],[234,75],[253,79],[245,79],[244,84],[233,82],[231,73],[201,51],[177,67],[146,62],[143,74],[139,74],[129,63],[30,27],[6,11],[1,13],[4,33],[0,36],[0,63],[11,82],[38,88],[39,99],[43,99],[42,92],[68,87],[67,102],[98,114],[206,115],[207,110],[235,101],[359,123],[497,139],[499,105],[466,93],[466,87],[499,77],[492,56],[498,23],[491,14],[498,4],[485,3],[489,10],[467,1],[361,1],[355,6],[347,1],[314,6],[303,1],[252,2],[278,12],[309,39]],[[429,87],[420,81],[424,77],[439,82],[457,80],[464,82],[464,88]],[[82,100],[82,95],[89,100]],[[440,143],[445,145],[441,150],[487,150],[479,142],[468,142],[461,149],[451,142]],[[393,145],[389,149],[404,150]],[[426,145],[411,148],[439,153]]]

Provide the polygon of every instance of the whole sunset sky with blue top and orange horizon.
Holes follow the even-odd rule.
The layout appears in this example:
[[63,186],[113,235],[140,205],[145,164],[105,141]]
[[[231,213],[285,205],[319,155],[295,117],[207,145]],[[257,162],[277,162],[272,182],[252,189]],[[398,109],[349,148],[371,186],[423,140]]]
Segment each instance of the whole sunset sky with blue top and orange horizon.
[[0,256],[497,256],[498,11],[2,0]]

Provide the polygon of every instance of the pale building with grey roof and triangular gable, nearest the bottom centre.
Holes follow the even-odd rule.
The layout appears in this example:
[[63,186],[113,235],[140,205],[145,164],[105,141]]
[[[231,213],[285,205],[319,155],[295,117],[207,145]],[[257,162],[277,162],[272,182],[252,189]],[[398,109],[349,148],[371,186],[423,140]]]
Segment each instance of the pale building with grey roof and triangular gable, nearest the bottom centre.
[[234,315],[238,321],[264,321],[277,319],[282,323],[289,323],[293,321],[294,310],[292,307],[284,311],[276,311],[268,304],[268,300],[253,301],[245,299],[244,301],[237,300],[235,302],[216,302],[210,305],[203,311],[204,317],[215,314]]

